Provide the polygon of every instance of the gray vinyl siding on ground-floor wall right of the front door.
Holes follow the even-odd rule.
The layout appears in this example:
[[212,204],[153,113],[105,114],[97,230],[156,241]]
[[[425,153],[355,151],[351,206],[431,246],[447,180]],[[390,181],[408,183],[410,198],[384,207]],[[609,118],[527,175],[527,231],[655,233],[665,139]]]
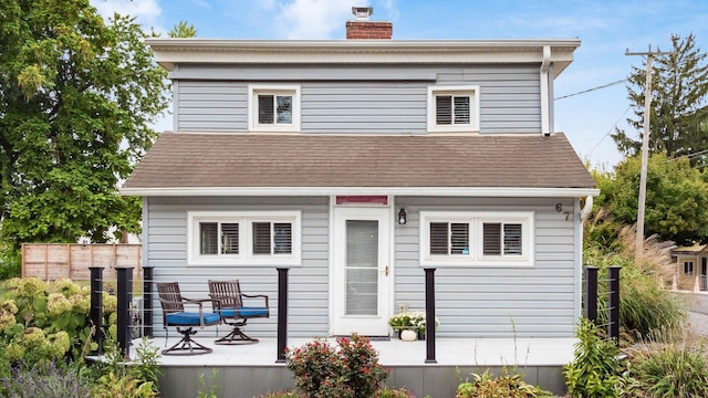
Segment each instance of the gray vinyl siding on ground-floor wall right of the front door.
[[[577,321],[574,199],[398,197],[408,222],[396,226],[394,308],[425,308],[419,264],[420,211],[533,211],[534,265],[435,268],[439,337],[572,337]],[[555,211],[555,203],[563,212]],[[565,220],[565,211],[570,211]]]

